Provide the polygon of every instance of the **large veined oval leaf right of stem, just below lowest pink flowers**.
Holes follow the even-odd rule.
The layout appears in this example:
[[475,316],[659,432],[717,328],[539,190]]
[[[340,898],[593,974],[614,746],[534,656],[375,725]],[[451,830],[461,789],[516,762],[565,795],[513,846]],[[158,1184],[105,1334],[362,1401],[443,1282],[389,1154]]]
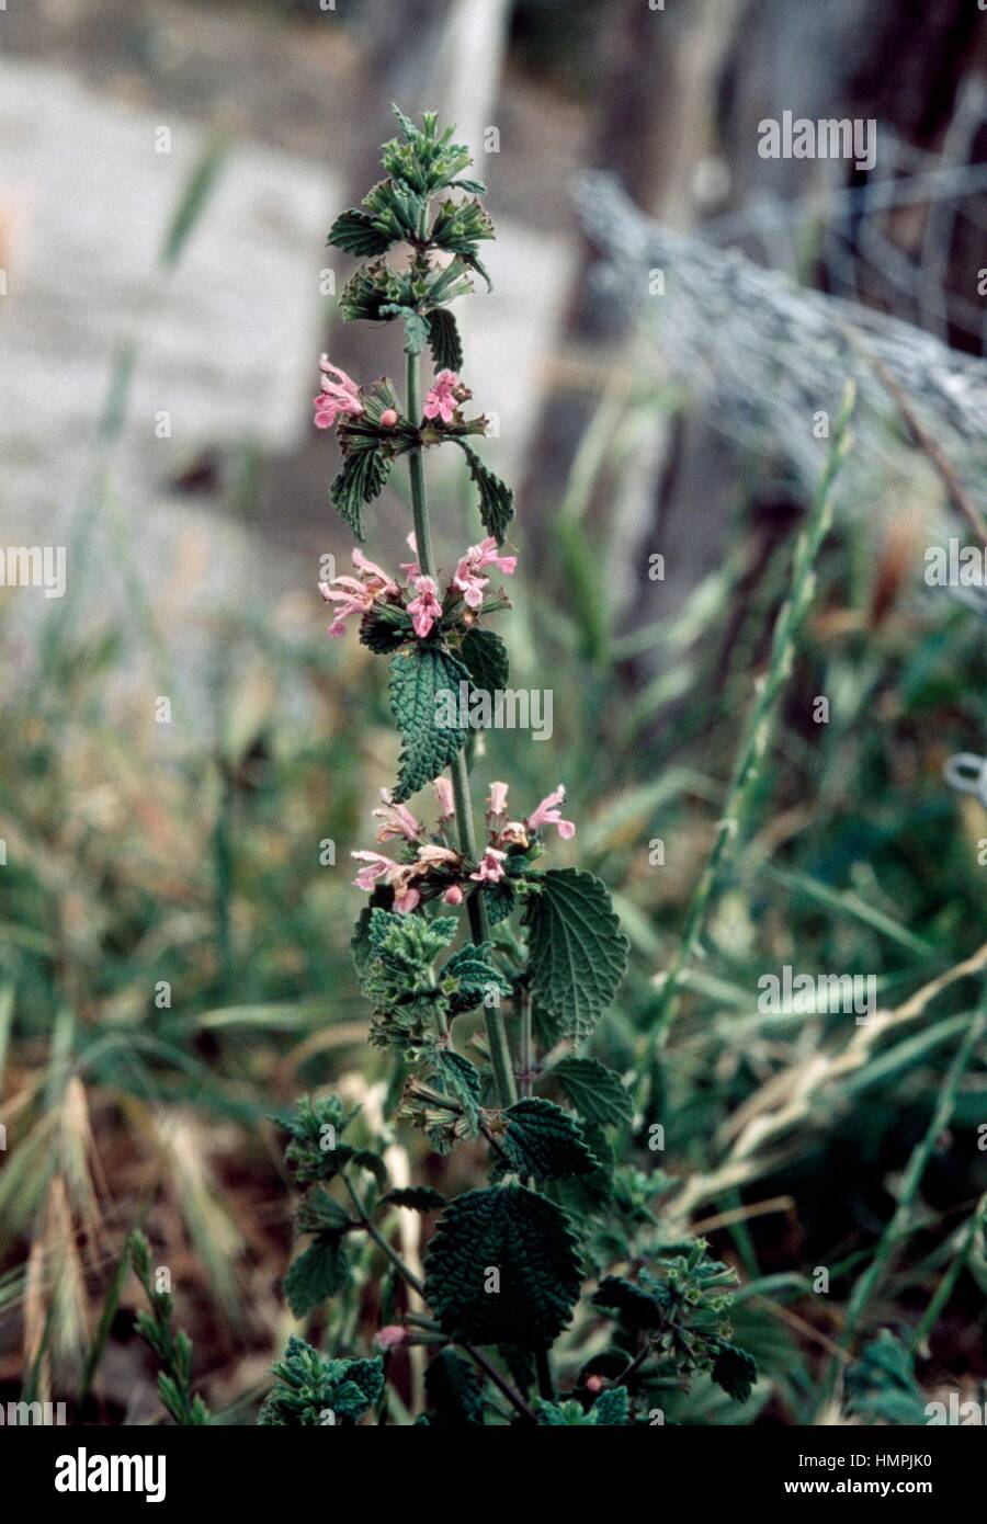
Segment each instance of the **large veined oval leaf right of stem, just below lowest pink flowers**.
[[584,1038],[613,1000],[630,943],[606,887],[581,869],[532,873],[525,907],[534,998],[564,1036]]

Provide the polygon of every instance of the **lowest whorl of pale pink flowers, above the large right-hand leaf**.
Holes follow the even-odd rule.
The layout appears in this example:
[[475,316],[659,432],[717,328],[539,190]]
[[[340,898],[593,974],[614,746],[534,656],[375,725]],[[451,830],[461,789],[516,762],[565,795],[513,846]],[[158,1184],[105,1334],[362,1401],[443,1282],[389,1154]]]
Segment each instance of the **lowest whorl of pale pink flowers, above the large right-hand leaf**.
[[499,884],[510,873],[511,858],[523,867],[540,853],[540,835],[546,826],[555,826],[564,841],[575,835],[575,824],[561,818],[560,806],[566,797],[561,783],[523,820],[508,818],[506,783],[491,783],[487,797],[487,844],[473,867],[461,852],[448,846],[447,826],[456,809],[452,783],[447,777],[439,777],[432,786],[439,805],[433,840],[407,805],[394,803],[391,791],[381,789],[381,808],[374,811],[381,821],[377,840],[381,844],[403,841],[407,860],[395,863],[383,852],[352,853],[363,864],[354,879],[357,888],[369,895],[378,884],[386,885],[394,890],[394,908],[400,913],[416,910],[423,899],[439,895],[447,905],[461,905],[468,882]]

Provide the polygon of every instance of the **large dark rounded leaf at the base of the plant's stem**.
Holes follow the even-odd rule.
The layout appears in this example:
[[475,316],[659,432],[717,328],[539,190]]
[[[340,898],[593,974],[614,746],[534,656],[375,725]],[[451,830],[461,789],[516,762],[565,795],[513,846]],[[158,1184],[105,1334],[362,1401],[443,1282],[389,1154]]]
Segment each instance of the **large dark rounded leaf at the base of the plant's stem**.
[[445,1209],[429,1245],[426,1297],[450,1338],[548,1349],[578,1295],[569,1219],[545,1196],[502,1186]]

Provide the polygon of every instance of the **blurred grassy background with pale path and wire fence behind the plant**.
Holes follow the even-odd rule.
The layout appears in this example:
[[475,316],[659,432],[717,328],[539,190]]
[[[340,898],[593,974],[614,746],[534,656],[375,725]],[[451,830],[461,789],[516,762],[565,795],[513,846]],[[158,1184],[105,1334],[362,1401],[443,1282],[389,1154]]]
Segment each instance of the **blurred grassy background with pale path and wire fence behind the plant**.
[[[566,783],[555,863],[606,878],[633,943],[595,1038],[627,1076],[857,381],[749,837],[659,1064],[656,1210],[738,1265],[761,1366],[743,1408],[700,1385],[680,1417],[819,1419],[895,1207],[860,1337],[918,1327],[921,1390],[982,1393],[982,1044],[950,1064],[987,966],[987,792],[943,770],[987,751],[987,623],[923,572],[985,507],[984,12],[11,0],[0,44],[3,544],[67,552],[63,599],[0,588],[0,1393],[160,1419],[136,1288],[108,1295],[143,1224],[214,1413],[250,1422],[293,1327],[267,1114],[331,1085],[424,1167],[383,1120],[348,951],[349,852],[397,756],[384,674],[316,593],[351,550],[319,354],[403,364],[391,329],[339,323],[325,247],[392,101],[459,123],[497,227],[464,378],[517,491],[513,680],[551,672],[554,736],[485,738],[477,799]],[[784,111],[873,119],[876,166],[763,158]],[[398,477],[369,547],[392,565]],[[445,564],[476,538],[464,488],[433,491]],[[847,1017],[758,1010],[784,963],[874,974],[899,1017],[847,1058]],[[468,1186],[482,1157],[441,1169]],[[355,1295],[354,1337],[371,1312]]]

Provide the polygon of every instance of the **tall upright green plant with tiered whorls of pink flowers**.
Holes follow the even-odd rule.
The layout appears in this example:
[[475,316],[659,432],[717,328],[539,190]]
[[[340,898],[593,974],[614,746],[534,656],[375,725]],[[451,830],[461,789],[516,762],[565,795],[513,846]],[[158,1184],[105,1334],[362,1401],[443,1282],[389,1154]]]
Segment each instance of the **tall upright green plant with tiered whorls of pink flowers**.
[[[416,1347],[426,1346],[418,1423],[654,1423],[662,1391],[696,1373],[746,1399],[754,1362],[731,1343],[732,1269],[702,1241],[662,1230],[651,1210],[661,1172],[618,1163],[632,1096],[583,1050],[618,992],[629,943],[598,878],[540,866],[555,838],[577,834],[564,788],[525,814],[505,782],[490,782],[477,841],[468,735],[436,718],[442,692],[508,680],[506,646],[487,619],[510,607],[494,582],[516,572],[517,558],[502,550],[514,500],[468,442],[487,419],[464,416],[471,393],[450,311],[476,274],[487,279],[485,187],[464,178],[470,155],[453,128],[397,114],[386,178],[343,212],[330,242],[366,261],[342,293],[343,319],[404,325],[404,401],[387,378],[358,384],[323,358],[314,422],[336,430],[342,468],[331,497],[358,541],[365,511],[407,457],[412,559],[391,575],[357,547],[354,573],[320,591],[333,607],[331,636],[352,617],[360,640],[389,657],[403,744],[397,780],[374,811],[377,847],[391,850],[354,852],[355,885],[369,896],[352,949],[371,1041],[394,1064],[397,1117],[436,1154],[461,1141],[487,1151],[490,1183],[452,1201],[432,1186],[395,1184],[389,1123],[371,1129],[334,1094],[278,1117],[304,1192],[297,1228],[310,1239],[285,1294],[297,1318],[323,1303],[336,1314],[331,1355],[290,1341],[261,1422],[403,1416],[401,1393],[413,1387],[403,1362],[410,1346],[421,1361]],[[401,264],[387,259],[397,245],[410,248]],[[423,401],[426,347],[435,373]],[[423,463],[445,443],[465,454],[484,527],[450,576],[433,550]],[[429,786],[432,828],[410,805]],[[401,1212],[441,1213],[424,1274],[395,1244]],[[371,1308],[375,1352],[343,1352]]]

